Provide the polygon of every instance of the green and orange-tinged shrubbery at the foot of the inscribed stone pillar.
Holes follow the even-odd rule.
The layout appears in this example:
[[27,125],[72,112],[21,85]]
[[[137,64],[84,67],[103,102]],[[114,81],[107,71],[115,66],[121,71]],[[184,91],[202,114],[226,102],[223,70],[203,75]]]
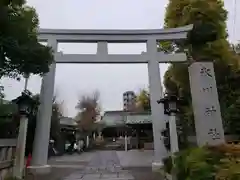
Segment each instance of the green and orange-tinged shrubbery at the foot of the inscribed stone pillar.
[[165,171],[175,168],[177,179],[240,180],[239,149],[232,145],[190,148],[164,159]]

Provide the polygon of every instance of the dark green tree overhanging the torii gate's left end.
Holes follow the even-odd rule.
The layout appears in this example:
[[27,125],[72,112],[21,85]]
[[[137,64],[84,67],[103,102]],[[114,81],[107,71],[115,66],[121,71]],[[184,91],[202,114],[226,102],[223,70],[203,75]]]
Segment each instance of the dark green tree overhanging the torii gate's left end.
[[0,1],[0,79],[49,71],[52,49],[38,42],[38,24],[35,9],[25,0]]

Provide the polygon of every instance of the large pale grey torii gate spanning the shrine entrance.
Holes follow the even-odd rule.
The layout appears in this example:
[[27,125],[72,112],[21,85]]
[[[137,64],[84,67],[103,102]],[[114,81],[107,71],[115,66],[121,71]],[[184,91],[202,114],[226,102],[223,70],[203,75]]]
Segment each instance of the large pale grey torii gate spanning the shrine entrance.
[[[37,117],[33,158],[31,168],[39,172],[47,172],[49,166],[48,144],[52,113],[52,98],[56,63],[147,63],[150,85],[151,112],[154,135],[153,168],[163,165],[166,156],[161,132],[165,129],[165,115],[162,104],[158,104],[163,95],[161,86],[159,63],[178,63],[187,60],[185,53],[164,54],[158,52],[158,41],[174,41],[186,39],[192,25],[173,29],[161,30],[60,30],[40,29],[39,41],[47,41],[54,50],[55,62],[50,71],[43,77],[40,95],[40,107]],[[58,43],[97,43],[96,54],[63,54],[57,52]],[[108,43],[146,43],[147,52],[142,54],[108,54]]]

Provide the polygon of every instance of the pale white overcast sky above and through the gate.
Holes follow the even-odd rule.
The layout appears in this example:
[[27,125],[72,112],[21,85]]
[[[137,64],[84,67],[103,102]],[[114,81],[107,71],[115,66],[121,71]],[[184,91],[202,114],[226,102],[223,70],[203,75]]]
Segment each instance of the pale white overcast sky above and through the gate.
[[[41,28],[60,29],[159,29],[163,26],[165,7],[168,0],[28,0],[39,14]],[[225,6],[231,11],[228,28],[230,39],[234,35],[234,0],[226,0]],[[240,9],[240,2],[237,5]],[[235,31],[240,30],[239,19]],[[141,53],[143,44],[111,44],[109,53]],[[65,53],[96,53],[96,44],[60,44]],[[167,65],[160,65],[161,77]],[[3,79],[7,99],[20,95],[24,82]],[[41,78],[33,76],[29,80],[29,90],[40,92]],[[75,105],[80,95],[100,91],[104,110],[122,109],[122,93],[127,90],[139,91],[148,87],[146,65],[57,65],[55,91],[59,100],[64,101],[65,115],[75,116]]]

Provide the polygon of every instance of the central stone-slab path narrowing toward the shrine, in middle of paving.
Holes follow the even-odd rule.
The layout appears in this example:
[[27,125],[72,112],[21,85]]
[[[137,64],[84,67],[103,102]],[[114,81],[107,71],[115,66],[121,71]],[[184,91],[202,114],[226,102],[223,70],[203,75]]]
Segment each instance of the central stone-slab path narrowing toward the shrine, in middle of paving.
[[127,170],[123,170],[115,151],[99,151],[82,171],[77,171],[63,180],[133,180]]

